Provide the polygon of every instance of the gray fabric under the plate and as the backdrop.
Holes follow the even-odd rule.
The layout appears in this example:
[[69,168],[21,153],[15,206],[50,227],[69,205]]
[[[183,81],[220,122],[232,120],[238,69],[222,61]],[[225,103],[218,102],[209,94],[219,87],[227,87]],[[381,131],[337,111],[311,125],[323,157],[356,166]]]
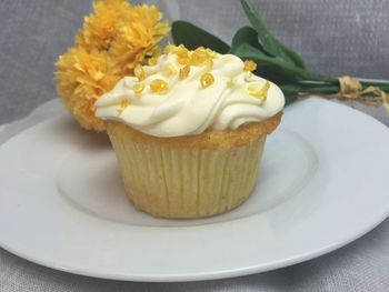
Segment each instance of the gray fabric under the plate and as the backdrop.
[[[313,70],[333,75],[389,79],[389,1],[255,1],[266,23]],[[239,1],[157,1],[172,19],[186,19],[229,41],[247,20]],[[89,1],[0,1],[0,124],[27,115],[56,97],[52,63],[72,43]],[[359,109],[389,125],[382,109]],[[44,104],[33,120],[58,111]],[[31,120],[30,120],[31,121]],[[0,127],[0,143],[26,128]],[[1,203],[1,202],[0,202]],[[307,234],[308,236],[309,234]],[[1,236],[1,234],[0,234]],[[188,283],[136,283],[50,270],[0,249],[0,291],[388,291],[389,220],[328,255],[278,271]]]

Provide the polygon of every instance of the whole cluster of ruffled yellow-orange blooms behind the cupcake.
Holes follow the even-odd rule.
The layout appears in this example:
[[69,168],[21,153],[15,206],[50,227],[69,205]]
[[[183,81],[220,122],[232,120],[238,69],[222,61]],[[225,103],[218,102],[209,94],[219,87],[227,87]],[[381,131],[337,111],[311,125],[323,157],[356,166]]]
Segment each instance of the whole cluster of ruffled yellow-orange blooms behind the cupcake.
[[81,127],[104,130],[94,118],[94,102],[138,63],[159,54],[157,43],[170,27],[156,6],[131,6],[127,0],[94,0],[84,17],[76,46],[56,63],[57,90]]

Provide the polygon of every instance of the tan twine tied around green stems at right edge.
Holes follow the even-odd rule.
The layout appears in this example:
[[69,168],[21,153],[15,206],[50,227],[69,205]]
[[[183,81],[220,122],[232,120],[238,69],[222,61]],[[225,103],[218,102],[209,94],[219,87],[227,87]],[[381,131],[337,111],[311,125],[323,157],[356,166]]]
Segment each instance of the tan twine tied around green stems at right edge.
[[339,92],[335,94],[323,94],[329,99],[356,100],[366,105],[383,105],[389,114],[389,95],[378,87],[367,87],[363,89],[361,82],[352,77],[342,75],[339,80]]

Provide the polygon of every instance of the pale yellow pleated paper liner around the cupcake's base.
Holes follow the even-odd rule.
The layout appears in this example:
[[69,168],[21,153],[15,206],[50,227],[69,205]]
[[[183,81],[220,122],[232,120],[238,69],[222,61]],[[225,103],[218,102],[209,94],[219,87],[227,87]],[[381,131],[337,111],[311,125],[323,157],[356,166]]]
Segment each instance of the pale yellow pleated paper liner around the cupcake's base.
[[266,135],[240,147],[171,148],[110,134],[133,205],[154,217],[225,213],[251,193]]

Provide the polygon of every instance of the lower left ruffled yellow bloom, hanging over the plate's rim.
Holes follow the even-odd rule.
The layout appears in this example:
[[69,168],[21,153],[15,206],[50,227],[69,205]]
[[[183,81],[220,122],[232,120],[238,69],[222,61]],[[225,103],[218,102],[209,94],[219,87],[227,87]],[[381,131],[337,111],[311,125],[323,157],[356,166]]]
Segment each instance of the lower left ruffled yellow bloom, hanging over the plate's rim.
[[87,130],[104,130],[94,118],[94,102],[110,91],[120,75],[110,71],[107,52],[71,48],[56,63],[57,91],[63,105]]

